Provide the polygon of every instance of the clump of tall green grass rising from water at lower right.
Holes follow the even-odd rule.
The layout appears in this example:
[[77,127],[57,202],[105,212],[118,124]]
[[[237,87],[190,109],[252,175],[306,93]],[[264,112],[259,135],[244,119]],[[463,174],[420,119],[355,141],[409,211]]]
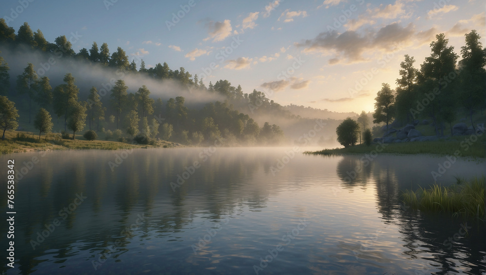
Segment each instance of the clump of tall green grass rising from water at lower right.
[[432,213],[450,213],[486,220],[485,177],[458,182],[451,187],[434,184],[430,189],[406,190],[401,199],[414,210]]

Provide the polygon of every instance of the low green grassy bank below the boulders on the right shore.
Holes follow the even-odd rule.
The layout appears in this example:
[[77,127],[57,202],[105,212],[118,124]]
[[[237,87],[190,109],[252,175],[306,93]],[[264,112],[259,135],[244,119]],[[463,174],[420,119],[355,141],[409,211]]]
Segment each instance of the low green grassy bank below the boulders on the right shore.
[[[436,155],[454,155],[459,151],[460,156],[485,158],[485,135],[478,137],[475,142],[467,143],[466,136],[453,137],[451,140],[437,140],[437,141],[416,141],[416,142],[402,142],[390,144],[359,144],[347,148],[324,149],[322,151],[311,152],[307,151],[304,154],[315,155],[345,155],[345,154],[366,154],[372,151],[382,150],[379,152],[388,154],[436,154]],[[472,144],[472,145],[470,145]]]

